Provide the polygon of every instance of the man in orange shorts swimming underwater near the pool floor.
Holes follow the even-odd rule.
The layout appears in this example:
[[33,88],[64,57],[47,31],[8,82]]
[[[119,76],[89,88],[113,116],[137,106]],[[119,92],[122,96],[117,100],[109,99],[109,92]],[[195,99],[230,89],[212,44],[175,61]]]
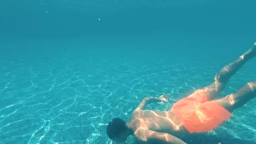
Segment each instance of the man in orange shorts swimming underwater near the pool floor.
[[185,143],[176,136],[216,129],[229,119],[232,111],[256,97],[256,81],[253,81],[235,93],[215,99],[230,77],[255,56],[256,43],[234,62],[222,68],[211,85],[179,100],[170,111],[144,110],[150,103],[167,102],[170,95],[144,98],[132,112],[129,122],[125,123],[120,118],[109,122],[108,137],[117,142],[124,142],[127,136],[135,135],[139,143]]

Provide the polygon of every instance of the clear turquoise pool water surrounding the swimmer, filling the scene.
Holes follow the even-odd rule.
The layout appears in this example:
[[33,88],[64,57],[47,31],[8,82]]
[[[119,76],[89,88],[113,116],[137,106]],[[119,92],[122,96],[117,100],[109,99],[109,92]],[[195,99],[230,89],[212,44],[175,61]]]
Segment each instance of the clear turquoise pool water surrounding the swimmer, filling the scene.
[[[0,1],[0,143],[115,143],[148,96],[169,110],[256,41],[254,1]],[[256,59],[220,97],[256,79]],[[256,143],[256,100],[187,143]],[[126,143],[135,143],[129,137]]]

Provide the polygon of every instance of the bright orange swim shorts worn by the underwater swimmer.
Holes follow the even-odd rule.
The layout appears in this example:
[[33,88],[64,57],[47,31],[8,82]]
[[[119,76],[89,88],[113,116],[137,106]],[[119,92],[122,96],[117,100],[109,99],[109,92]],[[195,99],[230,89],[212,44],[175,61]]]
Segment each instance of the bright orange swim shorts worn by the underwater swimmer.
[[201,90],[173,104],[171,111],[181,119],[189,133],[213,130],[231,116],[224,107],[207,101],[206,94]]

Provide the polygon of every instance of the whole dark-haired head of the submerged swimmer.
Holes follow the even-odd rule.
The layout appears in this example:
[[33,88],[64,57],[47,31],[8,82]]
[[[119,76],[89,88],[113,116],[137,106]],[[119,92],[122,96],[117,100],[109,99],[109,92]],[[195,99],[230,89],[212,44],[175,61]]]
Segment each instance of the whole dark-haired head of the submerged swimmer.
[[128,136],[125,134],[127,130],[128,127],[125,121],[120,118],[114,118],[108,123],[107,135],[113,141],[124,142]]

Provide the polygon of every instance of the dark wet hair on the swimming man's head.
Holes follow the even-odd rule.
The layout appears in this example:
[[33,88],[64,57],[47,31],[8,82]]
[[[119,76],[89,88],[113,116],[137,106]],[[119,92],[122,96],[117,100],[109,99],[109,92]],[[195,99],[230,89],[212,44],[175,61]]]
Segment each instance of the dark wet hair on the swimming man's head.
[[108,123],[107,135],[109,139],[117,137],[121,132],[127,130],[125,121],[120,118],[114,118]]

